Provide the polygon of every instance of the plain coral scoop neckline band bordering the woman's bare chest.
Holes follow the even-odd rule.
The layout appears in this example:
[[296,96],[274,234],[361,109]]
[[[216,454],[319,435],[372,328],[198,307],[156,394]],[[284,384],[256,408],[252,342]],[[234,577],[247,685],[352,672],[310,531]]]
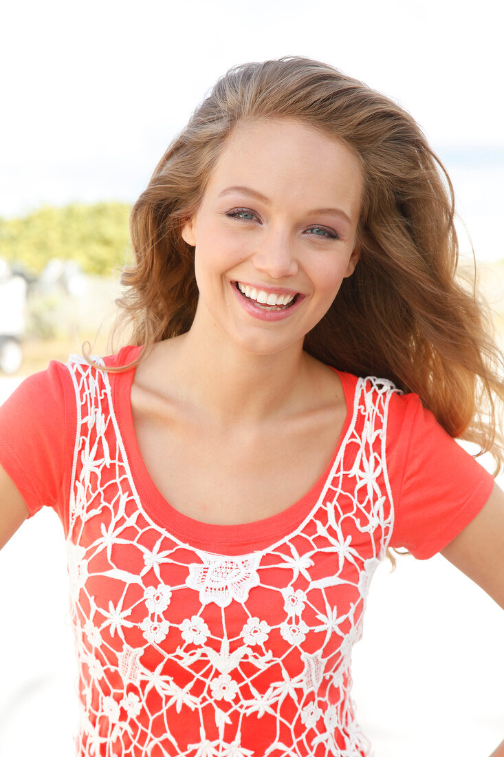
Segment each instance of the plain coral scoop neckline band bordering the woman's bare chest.
[[[114,364],[117,366],[131,363],[138,357],[141,350],[142,345],[126,345],[117,355],[106,358],[104,362],[106,365]],[[255,545],[257,547],[259,544],[271,541],[272,537],[282,537],[288,534],[300,525],[306,519],[306,516],[310,515],[325,488],[325,484],[328,482],[331,469],[342,450],[353,417],[356,377],[339,371],[333,366],[329,367],[340,377],[347,407],[343,428],[338,438],[338,444],[331,455],[331,460],[316,483],[297,502],[281,512],[275,513],[275,515],[239,524],[213,524],[193,519],[177,510],[163,497],[154,484],[147,466],[145,466],[133,425],[131,389],[135,378],[135,366],[128,371],[108,373],[108,377],[112,377],[112,404],[123,450],[129,464],[129,472],[141,500],[140,504],[151,520],[185,543],[197,547],[212,545],[213,551],[216,552],[226,548],[226,553],[229,553],[230,550],[235,551],[235,553],[243,553],[246,546]]]

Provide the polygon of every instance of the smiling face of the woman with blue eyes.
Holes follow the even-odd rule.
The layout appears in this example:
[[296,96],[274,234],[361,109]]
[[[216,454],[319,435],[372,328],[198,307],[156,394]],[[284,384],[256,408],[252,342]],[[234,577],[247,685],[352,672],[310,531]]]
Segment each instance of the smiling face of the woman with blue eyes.
[[194,323],[247,352],[302,347],[356,266],[361,195],[342,142],[294,120],[238,123],[182,229],[195,247]]

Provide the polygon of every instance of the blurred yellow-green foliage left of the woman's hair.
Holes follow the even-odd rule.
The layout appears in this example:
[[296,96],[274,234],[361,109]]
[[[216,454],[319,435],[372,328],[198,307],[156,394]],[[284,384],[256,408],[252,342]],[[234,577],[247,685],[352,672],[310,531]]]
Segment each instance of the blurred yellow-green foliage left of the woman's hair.
[[45,206],[23,218],[0,218],[0,257],[40,273],[53,257],[107,276],[126,263],[131,207],[120,202]]

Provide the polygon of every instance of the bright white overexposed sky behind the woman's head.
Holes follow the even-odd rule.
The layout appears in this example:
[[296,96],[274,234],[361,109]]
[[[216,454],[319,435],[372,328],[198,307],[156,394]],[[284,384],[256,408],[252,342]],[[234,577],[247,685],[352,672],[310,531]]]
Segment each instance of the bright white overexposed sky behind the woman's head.
[[218,76],[245,61],[306,55],[406,107],[453,172],[462,212],[483,229],[500,213],[504,185],[498,5],[11,2],[0,30],[0,217],[47,203],[134,201]]

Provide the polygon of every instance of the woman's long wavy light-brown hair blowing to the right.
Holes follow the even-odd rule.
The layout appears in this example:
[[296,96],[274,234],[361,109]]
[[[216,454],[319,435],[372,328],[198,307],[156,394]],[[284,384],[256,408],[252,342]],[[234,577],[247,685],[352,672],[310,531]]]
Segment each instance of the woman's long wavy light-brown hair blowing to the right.
[[269,118],[341,140],[364,177],[359,263],[304,349],[417,393],[451,436],[493,454],[496,474],[504,463],[502,353],[490,309],[475,283],[471,291],[457,275],[450,177],[402,107],[328,64],[289,56],[233,67],[217,81],[132,207],[133,260],[123,269],[114,331],[129,326],[128,343],[148,349],[191,328],[198,288],[182,225],[235,124]]

